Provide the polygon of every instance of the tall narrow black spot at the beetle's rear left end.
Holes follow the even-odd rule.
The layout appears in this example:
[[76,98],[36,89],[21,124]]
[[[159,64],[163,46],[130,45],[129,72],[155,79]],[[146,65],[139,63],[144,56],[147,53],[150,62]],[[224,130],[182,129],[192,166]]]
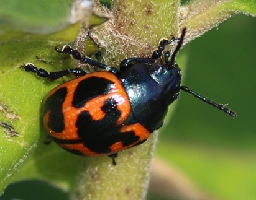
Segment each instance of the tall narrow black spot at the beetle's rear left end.
[[64,116],[62,113],[62,105],[67,95],[66,87],[61,87],[55,93],[50,95],[43,103],[43,116],[50,111],[48,128],[57,133],[60,133],[65,128]]

